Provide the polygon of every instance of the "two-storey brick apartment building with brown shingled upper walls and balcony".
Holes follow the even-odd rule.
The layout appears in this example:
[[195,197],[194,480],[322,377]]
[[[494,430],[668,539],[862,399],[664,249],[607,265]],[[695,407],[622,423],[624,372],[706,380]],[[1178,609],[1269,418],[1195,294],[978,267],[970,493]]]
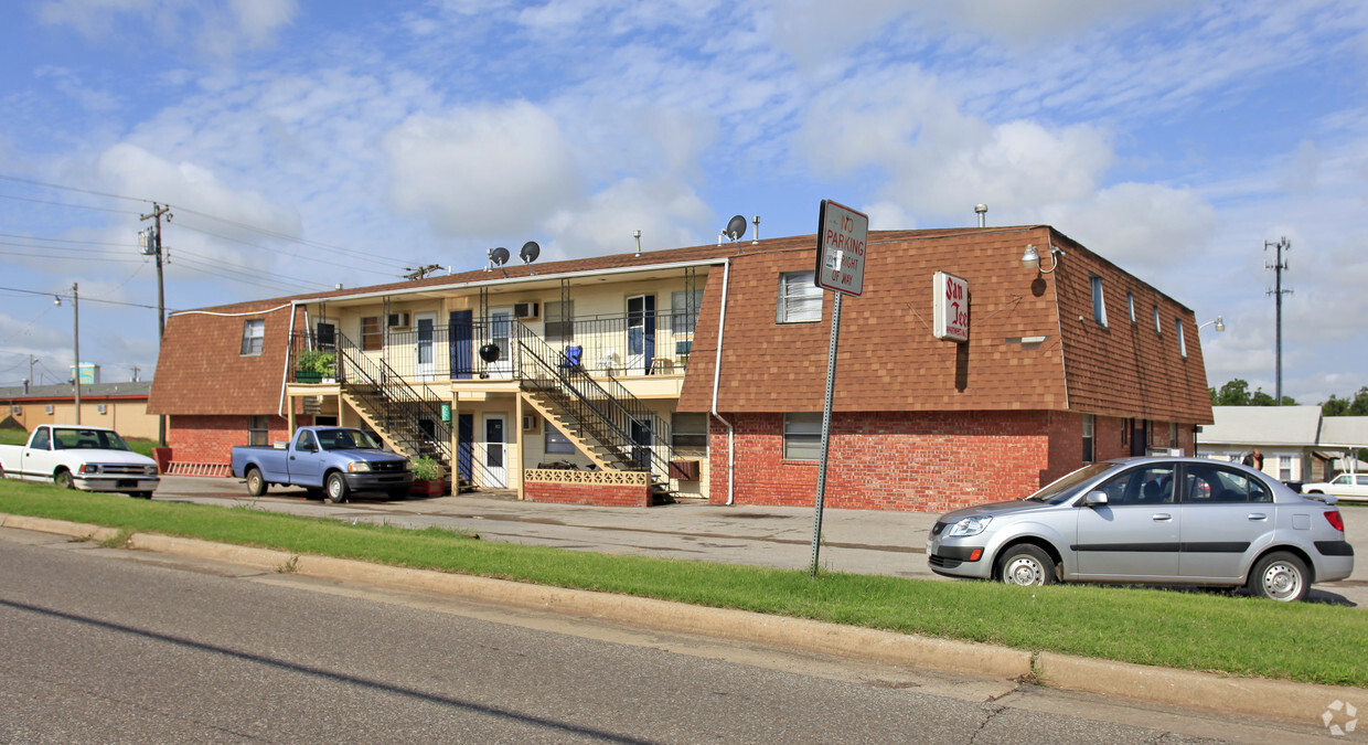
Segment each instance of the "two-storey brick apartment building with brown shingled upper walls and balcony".
[[[1025,496],[1089,460],[1190,452],[1211,422],[1192,311],[1055,229],[867,248],[826,504]],[[149,407],[176,462],[335,422],[525,498],[811,504],[832,310],[814,264],[800,236],[174,314]],[[937,271],[969,282],[969,341],[932,334]]]

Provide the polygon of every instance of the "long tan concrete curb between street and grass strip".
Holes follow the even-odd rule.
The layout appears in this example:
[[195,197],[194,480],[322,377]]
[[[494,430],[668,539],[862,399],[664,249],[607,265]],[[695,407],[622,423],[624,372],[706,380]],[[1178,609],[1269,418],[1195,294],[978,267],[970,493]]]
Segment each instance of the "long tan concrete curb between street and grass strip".
[[[0,527],[71,535],[94,541],[119,537],[111,527],[0,514]],[[1231,678],[1212,672],[1025,652],[986,644],[897,634],[818,620],[770,616],[731,608],[707,608],[647,597],[527,585],[506,579],[371,564],[352,559],[295,555],[197,538],[148,533],[127,535],[129,548],[209,559],[324,579],[368,582],[435,592],[490,603],[538,608],[662,630],[733,641],[773,644],[836,656],[1037,683],[1131,698],[1152,704],[1248,714],[1320,726],[1331,704],[1368,705],[1368,689],[1295,683],[1267,678]]]

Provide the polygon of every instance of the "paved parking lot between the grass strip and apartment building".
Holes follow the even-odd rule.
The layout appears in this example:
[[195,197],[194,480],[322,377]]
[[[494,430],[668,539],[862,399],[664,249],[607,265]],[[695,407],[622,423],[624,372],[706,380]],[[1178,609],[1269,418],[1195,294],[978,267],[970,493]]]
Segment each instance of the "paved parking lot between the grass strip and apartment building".
[[[309,500],[304,489],[272,488],[250,497],[233,478],[163,477],[157,500],[253,504],[261,509],[406,527],[461,527],[484,540],[806,570],[813,559],[813,508],[673,504],[651,508],[538,504],[509,493],[386,501],[365,494],[345,504]],[[1341,509],[1354,544],[1354,574],[1316,585],[1311,600],[1368,608],[1368,505]],[[944,579],[926,566],[934,514],[826,509],[818,563],[824,570]],[[956,579],[947,579],[956,582]]]

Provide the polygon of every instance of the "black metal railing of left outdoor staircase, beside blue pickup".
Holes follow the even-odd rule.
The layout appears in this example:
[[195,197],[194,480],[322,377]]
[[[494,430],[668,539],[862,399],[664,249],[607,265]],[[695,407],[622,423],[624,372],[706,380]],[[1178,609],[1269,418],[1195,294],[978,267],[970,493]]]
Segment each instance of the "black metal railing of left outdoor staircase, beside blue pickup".
[[[338,382],[371,408],[405,448],[451,468],[451,429],[442,422],[442,400],[428,390],[413,390],[382,359],[365,355],[350,338],[337,334]],[[423,420],[431,422],[427,433]]]

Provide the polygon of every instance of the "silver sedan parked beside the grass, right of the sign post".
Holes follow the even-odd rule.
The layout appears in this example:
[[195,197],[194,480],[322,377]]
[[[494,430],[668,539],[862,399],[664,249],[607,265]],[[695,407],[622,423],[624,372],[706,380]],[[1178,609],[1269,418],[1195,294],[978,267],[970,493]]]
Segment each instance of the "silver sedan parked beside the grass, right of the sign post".
[[1272,600],[1354,568],[1334,497],[1197,457],[1093,463],[1026,498],[947,512],[926,556],[936,574],[1010,585],[1248,586]]

